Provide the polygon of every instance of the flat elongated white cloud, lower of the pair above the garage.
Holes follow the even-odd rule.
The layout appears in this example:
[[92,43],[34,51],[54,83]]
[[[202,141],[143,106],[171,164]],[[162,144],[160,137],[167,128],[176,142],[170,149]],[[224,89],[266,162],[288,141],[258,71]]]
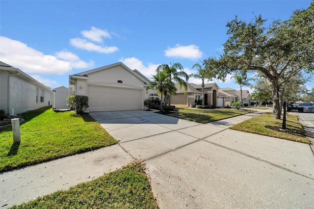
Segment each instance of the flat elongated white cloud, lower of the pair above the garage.
[[99,53],[113,53],[118,51],[118,47],[108,47],[99,46],[94,43],[88,42],[86,39],[72,38],[70,39],[70,44],[79,49],[87,50],[89,52],[99,52]]

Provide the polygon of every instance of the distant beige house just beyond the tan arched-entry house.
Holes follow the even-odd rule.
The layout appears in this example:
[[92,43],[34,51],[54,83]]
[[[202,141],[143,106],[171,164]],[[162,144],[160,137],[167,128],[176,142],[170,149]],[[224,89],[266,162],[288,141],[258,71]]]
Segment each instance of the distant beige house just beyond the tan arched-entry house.
[[[225,105],[231,106],[235,102],[240,102],[240,90],[235,90],[233,88],[221,88],[219,89],[221,93],[227,94]],[[248,90],[242,90],[242,104],[251,104],[250,93]]]

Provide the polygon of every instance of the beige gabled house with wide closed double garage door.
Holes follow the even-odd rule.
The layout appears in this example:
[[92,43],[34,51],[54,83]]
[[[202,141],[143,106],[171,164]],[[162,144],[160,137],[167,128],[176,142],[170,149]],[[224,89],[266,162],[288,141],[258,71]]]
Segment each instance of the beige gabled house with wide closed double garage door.
[[157,91],[146,90],[150,80],[122,62],[69,76],[70,94],[88,96],[88,111],[145,109],[144,100]]

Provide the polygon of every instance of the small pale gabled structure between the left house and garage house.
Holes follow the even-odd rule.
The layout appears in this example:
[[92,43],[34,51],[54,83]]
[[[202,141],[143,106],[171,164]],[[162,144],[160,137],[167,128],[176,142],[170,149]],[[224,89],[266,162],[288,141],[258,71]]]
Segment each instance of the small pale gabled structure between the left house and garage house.
[[68,100],[66,99],[69,96],[69,89],[65,86],[59,86],[52,89],[52,109],[53,110],[62,110],[69,109]]

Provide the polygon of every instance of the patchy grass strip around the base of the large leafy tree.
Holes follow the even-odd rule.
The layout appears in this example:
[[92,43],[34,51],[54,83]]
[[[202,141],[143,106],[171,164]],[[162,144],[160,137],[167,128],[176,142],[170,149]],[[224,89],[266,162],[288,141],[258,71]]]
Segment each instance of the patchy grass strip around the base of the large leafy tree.
[[299,123],[297,117],[293,114],[288,114],[286,118],[286,128],[290,131],[276,131],[267,128],[280,128],[282,127],[282,123],[283,120],[273,119],[271,113],[264,113],[260,116],[238,123],[230,127],[230,129],[249,133],[257,133],[260,135],[282,138],[307,144],[310,143],[306,136],[302,135],[302,133],[304,133],[302,125]]

